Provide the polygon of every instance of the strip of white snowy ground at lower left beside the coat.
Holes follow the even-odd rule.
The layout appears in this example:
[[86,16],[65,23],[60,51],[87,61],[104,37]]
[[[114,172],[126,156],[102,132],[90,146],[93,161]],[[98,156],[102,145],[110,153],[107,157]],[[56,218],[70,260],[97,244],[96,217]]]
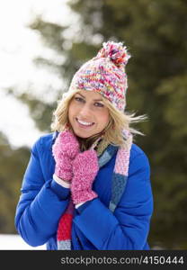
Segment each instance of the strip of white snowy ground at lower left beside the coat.
[[46,249],[46,246],[31,247],[25,243],[19,235],[14,234],[0,234],[0,250],[34,250]]

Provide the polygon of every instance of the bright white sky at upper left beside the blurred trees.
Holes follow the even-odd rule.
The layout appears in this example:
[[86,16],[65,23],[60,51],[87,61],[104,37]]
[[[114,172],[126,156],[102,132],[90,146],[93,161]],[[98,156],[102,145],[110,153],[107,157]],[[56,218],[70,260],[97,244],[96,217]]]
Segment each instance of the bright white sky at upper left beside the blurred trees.
[[[9,139],[13,148],[31,147],[42,132],[36,129],[26,105],[12,96],[4,94],[4,87],[16,85],[22,93],[24,85],[32,81],[36,89],[45,84],[62,84],[57,76],[45,69],[37,69],[33,58],[45,54],[51,57],[50,49],[45,49],[40,37],[26,25],[34,14],[42,14],[52,23],[67,24],[70,10],[67,0],[0,0],[0,131]],[[38,90],[38,95],[42,91]],[[51,97],[52,98],[52,97]]]

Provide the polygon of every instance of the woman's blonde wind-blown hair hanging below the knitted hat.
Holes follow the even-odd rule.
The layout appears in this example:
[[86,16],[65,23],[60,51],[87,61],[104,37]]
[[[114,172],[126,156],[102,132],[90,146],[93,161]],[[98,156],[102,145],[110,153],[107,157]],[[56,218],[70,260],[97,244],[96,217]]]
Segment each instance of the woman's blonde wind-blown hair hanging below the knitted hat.
[[[63,94],[61,100],[58,101],[58,107],[53,112],[53,121],[50,125],[52,131],[64,131],[66,130],[67,125],[70,126],[68,121],[68,108],[69,104],[74,97],[74,95],[81,90],[77,89],[74,91],[67,92]],[[82,150],[89,148],[96,139],[99,137],[105,139],[106,143],[112,144],[114,146],[124,147],[126,146],[126,140],[124,139],[124,135],[122,130],[129,130],[132,135],[142,135],[145,136],[144,133],[130,127],[131,123],[146,121],[147,115],[139,115],[135,116],[136,112],[120,112],[117,110],[110,101],[102,96],[102,102],[109,109],[110,120],[107,126],[102,130],[100,134],[94,134],[93,136],[87,139],[77,138],[81,144]],[[71,127],[70,127],[71,128]],[[72,129],[72,128],[71,128]],[[133,136],[134,137],[134,136]]]

